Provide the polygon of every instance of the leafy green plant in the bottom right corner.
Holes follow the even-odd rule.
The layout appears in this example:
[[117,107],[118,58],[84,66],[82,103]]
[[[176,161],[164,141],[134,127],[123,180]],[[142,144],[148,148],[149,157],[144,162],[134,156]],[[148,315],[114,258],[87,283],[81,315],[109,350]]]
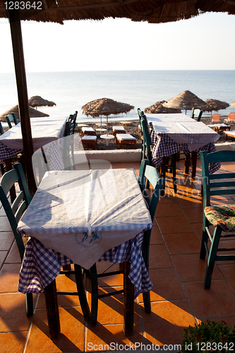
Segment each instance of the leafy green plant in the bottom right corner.
[[209,321],[184,329],[181,352],[235,352],[235,326]]

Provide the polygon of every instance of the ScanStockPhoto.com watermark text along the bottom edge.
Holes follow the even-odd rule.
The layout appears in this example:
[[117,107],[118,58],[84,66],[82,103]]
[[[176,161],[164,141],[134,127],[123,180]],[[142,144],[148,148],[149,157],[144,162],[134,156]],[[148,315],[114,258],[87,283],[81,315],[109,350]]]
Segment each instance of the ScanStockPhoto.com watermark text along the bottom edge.
[[181,345],[155,345],[154,343],[145,345],[140,342],[129,342],[128,344],[120,344],[111,342],[109,345],[97,345],[93,344],[92,342],[88,342],[88,351],[95,351],[95,352],[104,352],[104,351],[172,351],[172,352],[179,352],[181,351]]

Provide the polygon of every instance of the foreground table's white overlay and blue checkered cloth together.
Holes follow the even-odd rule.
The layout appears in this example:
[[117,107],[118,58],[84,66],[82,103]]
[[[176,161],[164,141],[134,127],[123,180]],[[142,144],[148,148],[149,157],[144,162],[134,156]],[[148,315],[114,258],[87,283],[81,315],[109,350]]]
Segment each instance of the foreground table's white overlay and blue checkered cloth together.
[[42,292],[61,265],[88,269],[101,258],[129,261],[135,296],[150,291],[141,245],[142,232],[151,227],[133,169],[47,172],[18,224],[20,234],[32,237],[18,289]]

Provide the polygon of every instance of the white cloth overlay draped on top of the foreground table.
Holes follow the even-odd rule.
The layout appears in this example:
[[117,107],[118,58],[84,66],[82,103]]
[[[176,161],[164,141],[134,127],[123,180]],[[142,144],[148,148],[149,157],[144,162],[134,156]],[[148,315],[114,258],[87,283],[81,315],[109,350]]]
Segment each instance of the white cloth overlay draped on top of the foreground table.
[[132,169],[47,172],[18,232],[84,268],[152,227]]

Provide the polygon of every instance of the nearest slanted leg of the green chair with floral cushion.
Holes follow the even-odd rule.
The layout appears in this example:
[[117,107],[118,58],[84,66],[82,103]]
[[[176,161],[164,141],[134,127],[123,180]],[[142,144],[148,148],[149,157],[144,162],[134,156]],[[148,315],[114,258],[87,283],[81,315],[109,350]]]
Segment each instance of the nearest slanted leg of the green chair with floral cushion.
[[205,289],[210,289],[210,283],[212,280],[212,273],[215,265],[215,258],[216,258],[216,253],[219,246],[219,239],[221,236],[221,232],[222,232],[221,228],[219,227],[215,228],[215,232],[212,238],[212,244],[210,246],[210,253],[207,261],[207,270],[205,273],[205,282],[204,282]]

